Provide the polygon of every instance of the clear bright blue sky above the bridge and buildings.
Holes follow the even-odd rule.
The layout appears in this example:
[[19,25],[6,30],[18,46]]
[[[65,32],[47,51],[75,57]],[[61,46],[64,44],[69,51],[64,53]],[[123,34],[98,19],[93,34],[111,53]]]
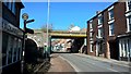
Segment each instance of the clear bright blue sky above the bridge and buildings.
[[[27,24],[33,29],[41,28],[47,24],[47,2],[23,2],[21,11],[28,14],[28,20],[35,22]],[[49,24],[52,29],[67,30],[71,24],[80,28],[86,28],[86,22],[96,15],[96,11],[103,11],[112,2],[50,2]],[[21,28],[23,20],[21,17]]]

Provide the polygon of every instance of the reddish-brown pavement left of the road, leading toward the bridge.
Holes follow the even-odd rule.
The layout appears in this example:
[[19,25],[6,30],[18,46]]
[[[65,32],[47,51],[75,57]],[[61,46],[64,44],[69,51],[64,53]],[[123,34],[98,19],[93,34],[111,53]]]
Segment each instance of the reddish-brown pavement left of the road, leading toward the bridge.
[[47,74],[75,74],[74,69],[57,53],[51,54],[50,63]]

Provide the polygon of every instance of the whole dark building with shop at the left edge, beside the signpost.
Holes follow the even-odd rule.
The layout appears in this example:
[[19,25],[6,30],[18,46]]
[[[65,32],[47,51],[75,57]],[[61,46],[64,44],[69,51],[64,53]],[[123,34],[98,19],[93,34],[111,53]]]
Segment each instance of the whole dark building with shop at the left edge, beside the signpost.
[[21,72],[23,30],[20,28],[20,13],[24,8],[21,0],[0,1],[2,33],[2,74]]

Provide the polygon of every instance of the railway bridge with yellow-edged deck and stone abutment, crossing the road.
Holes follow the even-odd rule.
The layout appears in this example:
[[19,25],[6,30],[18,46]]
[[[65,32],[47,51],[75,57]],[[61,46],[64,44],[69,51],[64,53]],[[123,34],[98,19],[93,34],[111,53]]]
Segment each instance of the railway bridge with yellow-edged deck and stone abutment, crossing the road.
[[[86,32],[52,30],[49,32],[49,47],[53,50],[64,49],[62,52],[86,52]],[[35,29],[34,34],[27,34],[27,38],[33,39],[37,47],[44,48],[47,44],[47,33],[41,29]],[[63,48],[60,48],[63,47]]]

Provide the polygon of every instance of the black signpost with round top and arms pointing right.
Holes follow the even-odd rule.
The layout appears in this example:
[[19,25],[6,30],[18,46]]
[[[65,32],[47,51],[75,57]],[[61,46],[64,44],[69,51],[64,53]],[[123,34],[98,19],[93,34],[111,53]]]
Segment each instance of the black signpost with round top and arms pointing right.
[[[24,20],[24,28],[23,28],[23,44],[22,44],[22,61],[21,61],[21,73],[24,74],[24,55],[25,55],[25,34],[29,33],[29,34],[34,34],[33,29],[29,29],[26,27],[27,23],[32,23],[35,20],[28,20],[28,14],[24,13],[22,15],[22,18]],[[27,21],[28,20],[28,21]]]

